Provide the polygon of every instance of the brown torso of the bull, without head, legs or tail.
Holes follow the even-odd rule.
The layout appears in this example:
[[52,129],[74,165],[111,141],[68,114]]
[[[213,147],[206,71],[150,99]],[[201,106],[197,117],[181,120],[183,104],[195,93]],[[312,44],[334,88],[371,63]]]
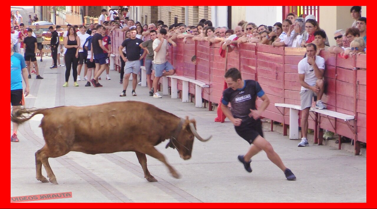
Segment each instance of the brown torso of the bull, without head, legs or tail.
[[42,113],[40,126],[46,145],[64,153],[144,153],[143,148],[169,139],[181,120],[153,105],[136,101],[62,106]]

